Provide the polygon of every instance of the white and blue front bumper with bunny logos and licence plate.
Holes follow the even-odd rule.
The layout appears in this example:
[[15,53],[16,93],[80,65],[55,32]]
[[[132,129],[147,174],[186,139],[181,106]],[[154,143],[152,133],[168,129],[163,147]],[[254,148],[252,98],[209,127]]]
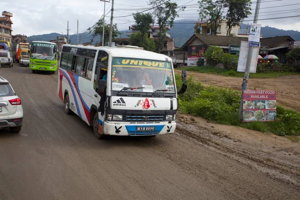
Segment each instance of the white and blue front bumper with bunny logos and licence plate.
[[176,122],[168,123],[115,123],[104,121],[104,134],[109,135],[130,135],[130,136],[145,136],[174,133]]

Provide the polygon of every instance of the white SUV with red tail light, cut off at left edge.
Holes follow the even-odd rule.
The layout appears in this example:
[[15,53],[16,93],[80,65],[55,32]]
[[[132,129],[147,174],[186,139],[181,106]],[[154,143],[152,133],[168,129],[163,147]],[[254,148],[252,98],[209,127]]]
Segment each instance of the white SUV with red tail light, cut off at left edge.
[[23,107],[9,82],[0,76],[0,129],[19,132],[22,127]]

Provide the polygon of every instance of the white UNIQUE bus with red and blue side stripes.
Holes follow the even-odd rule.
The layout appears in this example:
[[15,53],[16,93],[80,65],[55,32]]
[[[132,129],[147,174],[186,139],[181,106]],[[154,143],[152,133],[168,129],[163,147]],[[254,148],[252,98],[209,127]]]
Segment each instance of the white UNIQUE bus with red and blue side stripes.
[[65,44],[57,92],[66,114],[77,114],[99,139],[166,134],[176,127],[174,78],[172,60],[163,54],[134,46]]

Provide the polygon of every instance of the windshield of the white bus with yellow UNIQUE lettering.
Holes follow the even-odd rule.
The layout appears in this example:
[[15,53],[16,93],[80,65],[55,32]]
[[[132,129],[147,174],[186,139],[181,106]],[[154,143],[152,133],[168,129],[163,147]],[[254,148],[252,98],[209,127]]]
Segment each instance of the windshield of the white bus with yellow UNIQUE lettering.
[[115,57],[112,60],[111,73],[112,90],[143,87],[135,91],[154,92],[166,89],[166,92],[175,91],[171,63],[167,61]]

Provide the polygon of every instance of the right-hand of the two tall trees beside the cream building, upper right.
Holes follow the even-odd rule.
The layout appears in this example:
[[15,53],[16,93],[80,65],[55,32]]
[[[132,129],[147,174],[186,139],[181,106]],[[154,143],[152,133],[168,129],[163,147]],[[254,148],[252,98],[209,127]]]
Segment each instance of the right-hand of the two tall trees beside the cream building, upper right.
[[251,0],[229,0],[225,1],[224,7],[227,8],[226,24],[227,36],[230,35],[232,27],[239,25],[240,21],[251,14]]

